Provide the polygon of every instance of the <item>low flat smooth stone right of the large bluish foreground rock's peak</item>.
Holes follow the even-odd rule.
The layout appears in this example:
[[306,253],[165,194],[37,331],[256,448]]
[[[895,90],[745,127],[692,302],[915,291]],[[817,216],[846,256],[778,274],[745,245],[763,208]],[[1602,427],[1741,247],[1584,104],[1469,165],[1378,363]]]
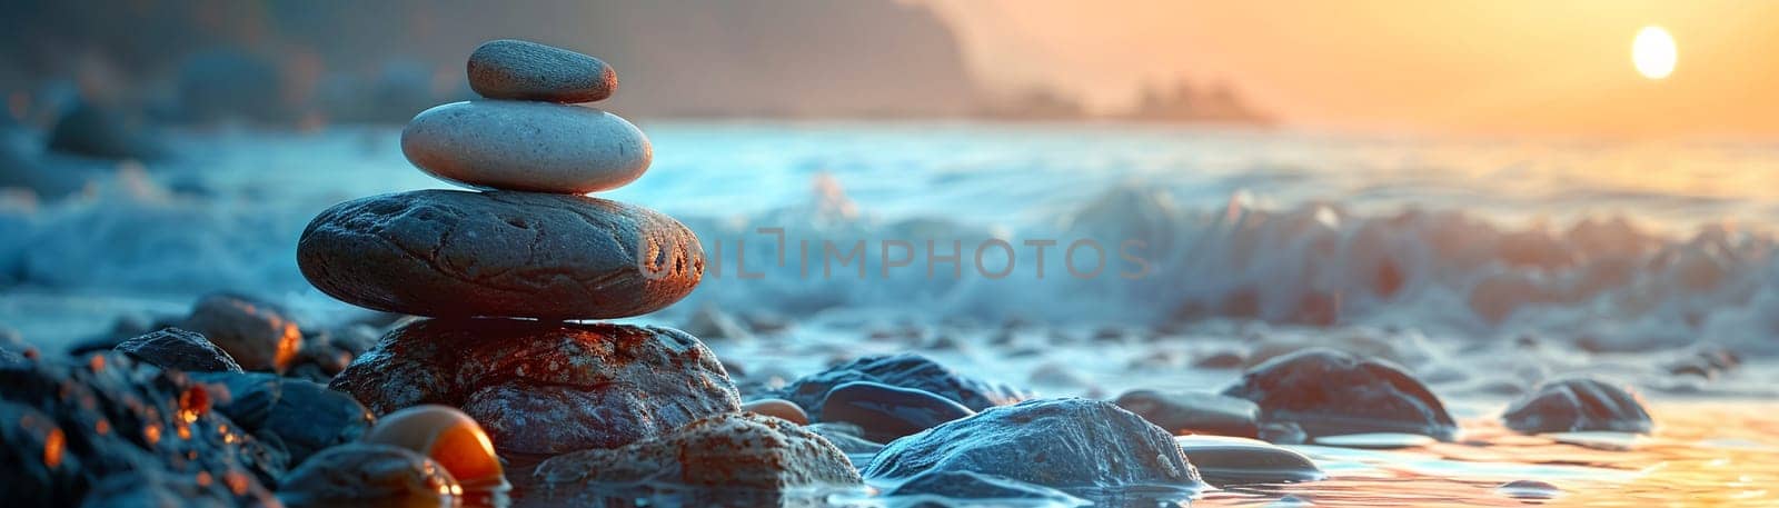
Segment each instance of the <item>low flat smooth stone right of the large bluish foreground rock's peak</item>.
[[1327,478],[1309,456],[1258,439],[1224,435],[1174,437],[1204,481],[1224,485],[1293,483]]

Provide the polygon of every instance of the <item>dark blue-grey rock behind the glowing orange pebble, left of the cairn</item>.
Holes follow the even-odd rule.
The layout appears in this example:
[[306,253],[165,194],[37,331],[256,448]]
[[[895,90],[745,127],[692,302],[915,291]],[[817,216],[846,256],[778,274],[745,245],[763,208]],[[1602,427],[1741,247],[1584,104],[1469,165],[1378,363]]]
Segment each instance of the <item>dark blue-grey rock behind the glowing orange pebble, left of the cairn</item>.
[[352,396],[308,380],[272,373],[192,373],[192,378],[212,387],[217,412],[260,439],[283,442],[290,464],[354,442],[375,423]]

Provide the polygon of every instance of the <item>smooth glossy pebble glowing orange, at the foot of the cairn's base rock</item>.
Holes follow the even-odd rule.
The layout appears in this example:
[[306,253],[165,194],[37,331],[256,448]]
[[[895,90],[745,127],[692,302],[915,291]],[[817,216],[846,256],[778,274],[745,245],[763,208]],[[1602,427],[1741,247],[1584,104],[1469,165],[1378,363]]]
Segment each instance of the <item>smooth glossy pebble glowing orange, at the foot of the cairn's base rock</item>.
[[475,419],[454,407],[416,405],[391,412],[370,428],[365,442],[400,446],[427,455],[466,490],[507,487],[495,442]]

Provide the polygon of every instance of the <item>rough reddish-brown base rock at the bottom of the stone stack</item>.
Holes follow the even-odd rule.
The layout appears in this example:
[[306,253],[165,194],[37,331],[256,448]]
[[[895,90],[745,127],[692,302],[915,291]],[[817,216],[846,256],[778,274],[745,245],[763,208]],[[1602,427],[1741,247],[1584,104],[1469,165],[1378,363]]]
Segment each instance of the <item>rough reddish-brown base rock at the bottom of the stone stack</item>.
[[742,403],[685,332],[612,323],[420,320],[334,377],[375,414],[461,407],[502,453],[617,448]]

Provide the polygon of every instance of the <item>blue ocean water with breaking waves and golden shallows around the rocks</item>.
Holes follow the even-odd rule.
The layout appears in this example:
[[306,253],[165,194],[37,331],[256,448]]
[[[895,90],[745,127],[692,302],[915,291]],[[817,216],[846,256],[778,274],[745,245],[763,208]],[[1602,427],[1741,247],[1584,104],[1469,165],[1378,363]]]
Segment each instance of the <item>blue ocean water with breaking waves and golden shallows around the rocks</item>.
[[[1195,359],[1322,345],[1404,364],[1466,437],[1302,448],[1332,480],[1215,490],[1197,504],[1779,497],[1779,142],[640,126],[655,165],[600,197],[687,222],[710,268],[690,298],[639,320],[777,323],[710,341],[754,378],[922,350],[1044,394],[1215,391],[1238,369]],[[206,291],[272,298],[304,323],[350,320],[359,311],[302,281],[295,240],[334,202],[450,187],[409,167],[398,135],[224,128],[174,133],[178,156],[149,165],[41,155],[109,176],[64,201],[0,197],[0,325],[53,350],[121,316],[180,314]],[[841,263],[852,245],[859,258]],[[1012,337],[1009,323],[1023,323]],[[1676,373],[1699,350],[1743,366]],[[1512,396],[1558,375],[1633,385],[1662,426],[1606,439],[1614,449],[1500,430]],[[1512,480],[1564,494],[1494,488]]]

